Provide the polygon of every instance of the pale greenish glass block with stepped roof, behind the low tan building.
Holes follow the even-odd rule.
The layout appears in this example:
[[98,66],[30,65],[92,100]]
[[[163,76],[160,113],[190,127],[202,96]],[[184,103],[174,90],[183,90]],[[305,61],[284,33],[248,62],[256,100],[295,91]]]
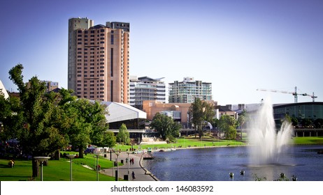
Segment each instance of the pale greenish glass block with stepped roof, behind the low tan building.
[[195,98],[211,101],[212,84],[203,81],[194,81],[193,77],[185,77],[183,81],[174,81],[169,84],[169,103],[193,103]]

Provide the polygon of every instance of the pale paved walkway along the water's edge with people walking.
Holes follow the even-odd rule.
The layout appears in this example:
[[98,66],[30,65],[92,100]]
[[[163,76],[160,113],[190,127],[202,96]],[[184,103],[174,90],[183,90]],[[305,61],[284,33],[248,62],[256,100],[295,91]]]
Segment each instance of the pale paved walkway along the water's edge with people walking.
[[[124,175],[128,175],[128,167],[129,167],[129,180],[132,181],[131,173],[134,171],[136,179],[134,181],[158,181],[158,179],[150,173],[147,169],[145,169],[141,161],[143,160],[142,155],[129,154],[129,158],[134,158],[134,164],[129,164],[129,161],[126,162],[126,158],[128,157],[128,153],[122,152],[118,157],[118,161],[121,162],[123,160],[124,165],[119,166],[119,178],[123,180]],[[110,159],[110,154],[107,154],[107,159]],[[117,166],[110,169],[103,169],[100,173],[106,174],[108,176],[115,177],[115,171],[117,170]]]

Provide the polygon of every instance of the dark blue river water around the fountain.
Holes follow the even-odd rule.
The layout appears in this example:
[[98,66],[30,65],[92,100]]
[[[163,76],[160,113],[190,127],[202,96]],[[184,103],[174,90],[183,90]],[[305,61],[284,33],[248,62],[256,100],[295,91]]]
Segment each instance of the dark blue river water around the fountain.
[[301,181],[323,181],[323,155],[317,154],[323,146],[288,146],[273,164],[253,164],[250,147],[155,152],[155,159],[143,160],[143,166],[161,181],[276,180],[280,173],[288,180],[295,176]]

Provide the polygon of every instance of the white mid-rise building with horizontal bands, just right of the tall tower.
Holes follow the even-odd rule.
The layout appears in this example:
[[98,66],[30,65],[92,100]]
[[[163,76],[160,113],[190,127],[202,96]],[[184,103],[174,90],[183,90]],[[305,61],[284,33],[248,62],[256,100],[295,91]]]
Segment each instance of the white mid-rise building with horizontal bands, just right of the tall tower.
[[144,100],[157,100],[166,102],[166,86],[161,79],[150,77],[130,77],[130,105],[143,109]]

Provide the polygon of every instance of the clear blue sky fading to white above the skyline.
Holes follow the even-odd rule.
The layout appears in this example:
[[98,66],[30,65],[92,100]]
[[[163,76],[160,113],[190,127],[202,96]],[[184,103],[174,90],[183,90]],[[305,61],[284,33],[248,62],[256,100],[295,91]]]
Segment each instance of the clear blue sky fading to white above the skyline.
[[[183,77],[213,84],[219,104],[323,101],[323,1],[24,1],[0,2],[0,79],[17,91],[8,70],[67,88],[68,20],[130,22],[130,75]],[[312,101],[299,96],[299,102]]]

